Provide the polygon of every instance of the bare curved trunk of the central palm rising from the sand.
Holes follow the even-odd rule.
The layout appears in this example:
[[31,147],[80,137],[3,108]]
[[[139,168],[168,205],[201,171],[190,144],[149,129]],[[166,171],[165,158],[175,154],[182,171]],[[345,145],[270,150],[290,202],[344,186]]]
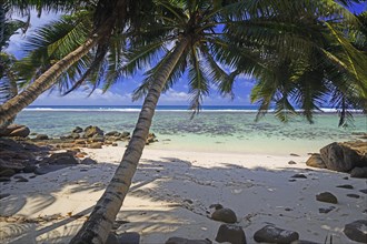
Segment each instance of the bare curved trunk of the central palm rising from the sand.
[[97,244],[106,242],[116,215],[120,211],[123,200],[129,191],[133,174],[137,171],[160,92],[176,63],[182,55],[187,44],[187,39],[182,39],[177,43],[173,52],[167,60],[167,63],[161,68],[157,80],[149,89],[145,99],[138,122],[120,165],[116,170],[112,180],[107,186],[103,195],[99,199],[89,218],[79,230],[78,234],[71,240],[70,244]]

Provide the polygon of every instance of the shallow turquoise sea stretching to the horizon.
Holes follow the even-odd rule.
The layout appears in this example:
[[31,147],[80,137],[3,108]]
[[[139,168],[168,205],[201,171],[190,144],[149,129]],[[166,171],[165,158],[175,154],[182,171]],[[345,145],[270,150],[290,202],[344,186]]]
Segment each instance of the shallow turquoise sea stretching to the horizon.
[[[76,126],[98,125],[105,132],[132,132],[140,106],[29,106],[16,123],[49,136],[69,134]],[[367,132],[367,116],[354,114],[354,122],[338,128],[331,109],[315,114],[315,123],[297,116],[282,123],[270,112],[255,122],[256,106],[204,106],[191,119],[188,106],[160,105],[152,126],[159,142],[149,148],[163,150],[305,155],[335,141],[358,139]]]

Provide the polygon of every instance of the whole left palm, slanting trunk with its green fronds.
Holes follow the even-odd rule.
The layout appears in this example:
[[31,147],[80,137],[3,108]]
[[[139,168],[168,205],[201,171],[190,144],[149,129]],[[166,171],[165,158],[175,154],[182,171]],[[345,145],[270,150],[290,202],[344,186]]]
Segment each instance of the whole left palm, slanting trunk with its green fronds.
[[[22,2],[23,1],[20,1],[20,3]],[[66,8],[70,6],[70,2],[73,1],[65,2]],[[86,1],[75,2],[76,4],[78,3],[76,10],[79,10],[76,16],[82,16],[83,12],[87,11],[88,13],[85,13],[85,17],[91,17],[89,20],[92,24],[86,29],[86,23],[88,21],[83,21],[85,29],[82,32],[78,33],[76,30],[78,28],[82,30],[81,26],[78,24],[76,28],[70,26],[70,21],[72,22],[78,19],[76,18],[59,24],[58,31],[60,31],[60,28],[69,24],[67,29],[62,30],[63,32],[60,37],[58,37],[58,31],[54,31],[54,29],[50,31],[44,31],[43,29],[42,34],[43,37],[47,35],[46,40],[41,40],[42,34],[38,38],[33,38],[36,45],[41,45],[37,47],[39,51],[36,50],[30,54],[28,64],[26,62],[26,67],[28,65],[28,68],[30,68],[28,74],[32,74],[26,78],[28,78],[28,81],[31,83],[17,96],[0,105],[0,123],[9,120],[33,102],[41,93],[58,83],[60,81],[59,78],[63,74],[69,75],[71,72],[71,78],[75,78],[76,74],[79,75],[77,81],[71,79],[72,85],[67,85],[67,88],[71,90],[78,88],[90,77],[95,77],[96,79],[96,73],[105,68],[103,60],[105,57],[110,53],[110,43],[115,41],[115,47],[120,45],[121,39],[115,39],[113,37],[121,34],[127,28],[139,27],[139,23],[142,22],[145,18],[149,17],[148,10],[145,9],[149,9],[151,3],[151,1],[142,0],[99,0],[87,1],[88,4]],[[33,1],[31,1],[31,3],[33,3]],[[61,4],[60,1],[46,1],[46,3],[48,3],[46,6],[50,4],[50,8]],[[20,4],[20,7],[23,6]],[[81,19],[79,18],[79,20]],[[77,37],[80,37],[80,39],[76,39]],[[52,41],[49,42],[50,40]],[[66,40],[68,43],[65,42]],[[79,45],[76,45],[77,43],[79,43]],[[75,49],[71,51],[72,48]],[[82,60],[87,54],[91,54],[92,59],[82,65],[81,63],[86,59],[90,59],[87,57]],[[78,61],[80,62],[78,63]],[[37,69],[34,69],[33,65]],[[70,68],[72,68],[72,71],[66,73]],[[68,78],[61,79],[61,81],[68,81]]]

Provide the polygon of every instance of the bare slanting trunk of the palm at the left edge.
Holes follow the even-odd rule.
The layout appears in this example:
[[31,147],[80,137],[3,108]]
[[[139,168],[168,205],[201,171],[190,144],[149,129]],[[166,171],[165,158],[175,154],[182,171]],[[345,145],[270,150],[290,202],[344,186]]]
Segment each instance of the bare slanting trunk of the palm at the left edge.
[[30,84],[24,91],[8,100],[0,105],[0,124],[13,118],[22,109],[31,104],[40,94],[50,89],[56,83],[57,79],[68,70],[75,62],[86,55],[90,49],[98,43],[99,38],[90,38],[70,52],[63,59],[54,63],[48,69],[41,77],[39,77],[32,84]]

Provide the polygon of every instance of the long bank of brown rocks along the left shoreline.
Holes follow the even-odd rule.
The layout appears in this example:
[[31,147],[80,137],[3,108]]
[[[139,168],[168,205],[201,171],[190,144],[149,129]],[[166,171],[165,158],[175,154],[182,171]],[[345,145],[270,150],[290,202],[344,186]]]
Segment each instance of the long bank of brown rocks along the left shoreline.
[[[34,134],[29,139],[30,130],[24,125],[12,124],[0,131],[0,182],[10,181],[17,173],[38,175],[78,164],[95,164],[80,148],[101,149],[102,145],[117,146],[118,141],[128,141],[129,132],[112,131],[103,133],[98,126],[75,128],[60,139],[47,134]],[[156,142],[156,135],[149,133],[147,144]],[[54,152],[56,150],[66,152]],[[18,182],[24,179],[13,177]],[[27,179],[26,179],[27,180]],[[28,180],[27,180],[28,181]]]

